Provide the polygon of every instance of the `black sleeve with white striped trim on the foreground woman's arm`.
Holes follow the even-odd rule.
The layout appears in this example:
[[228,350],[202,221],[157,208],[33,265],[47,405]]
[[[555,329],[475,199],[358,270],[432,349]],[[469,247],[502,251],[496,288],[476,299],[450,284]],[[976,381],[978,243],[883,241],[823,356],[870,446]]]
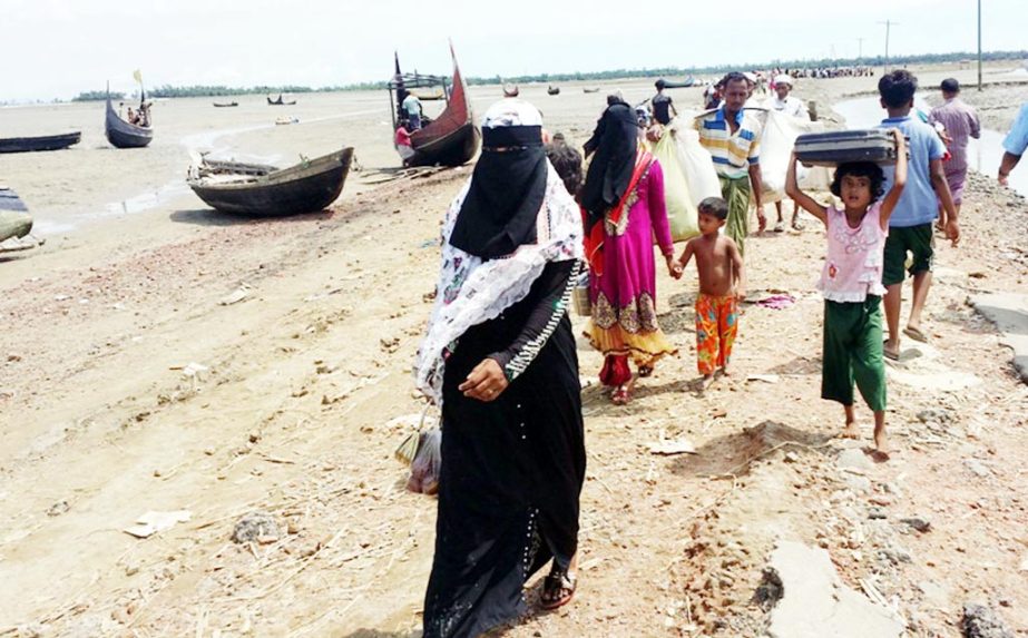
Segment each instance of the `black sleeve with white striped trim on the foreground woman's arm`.
[[578,269],[577,261],[551,262],[536,279],[533,286],[538,286],[540,293],[525,327],[507,350],[489,355],[503,369],[508,381],[525,372],[557,330],[557,324],[568,312]]

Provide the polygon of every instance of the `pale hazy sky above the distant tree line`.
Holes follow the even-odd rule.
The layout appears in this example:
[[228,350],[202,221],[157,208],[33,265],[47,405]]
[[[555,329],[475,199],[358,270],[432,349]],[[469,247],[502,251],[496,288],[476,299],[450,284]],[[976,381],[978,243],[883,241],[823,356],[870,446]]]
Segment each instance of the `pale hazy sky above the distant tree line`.
[[[1024,0],[982,0],[982,48],[1028,48]],[[977,0],[0,0],[0,101],[148,86],[340,86],[977,49]],[[703,9],[701,9],[703,8]],[[711,16],[716,16],[711,19]],[[862,41],[861,41],[862,39]]]

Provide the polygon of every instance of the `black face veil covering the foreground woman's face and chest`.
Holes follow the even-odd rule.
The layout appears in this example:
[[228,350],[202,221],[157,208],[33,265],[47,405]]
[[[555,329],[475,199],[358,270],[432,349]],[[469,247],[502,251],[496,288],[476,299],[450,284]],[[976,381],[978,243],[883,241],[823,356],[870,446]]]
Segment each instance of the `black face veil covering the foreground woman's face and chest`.
[[536,242],[548,164],[542,127],[482,129],[482,155],[460,208],[450,245],[492,259]]

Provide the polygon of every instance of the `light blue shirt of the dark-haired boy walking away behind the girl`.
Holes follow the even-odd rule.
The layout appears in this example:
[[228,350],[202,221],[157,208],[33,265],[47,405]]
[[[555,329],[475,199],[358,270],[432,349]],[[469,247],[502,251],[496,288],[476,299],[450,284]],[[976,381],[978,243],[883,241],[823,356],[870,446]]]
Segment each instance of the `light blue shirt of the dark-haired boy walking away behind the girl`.
[[[939,202],[931,185],[931,160],[942,159],[946,145],[931,126],[918,118],[890,117],[879,128],[898,128],[907,136],[910,160],[907,163],[907,187],[889,218],[890,228],[905,228],[931,224],[939,215]],[[885,173],[885,193],[892,188],[894,166],[882,167]]]

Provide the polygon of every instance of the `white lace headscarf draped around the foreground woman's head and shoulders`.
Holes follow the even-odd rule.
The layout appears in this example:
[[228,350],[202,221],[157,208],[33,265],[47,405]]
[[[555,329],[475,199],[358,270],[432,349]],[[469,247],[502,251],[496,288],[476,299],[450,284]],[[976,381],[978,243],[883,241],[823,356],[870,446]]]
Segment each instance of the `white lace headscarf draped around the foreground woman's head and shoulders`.
[[[482,128],[541,125],[538,109],[517,98],[492,105],[482,121]],[[450,234],[470,187],[471,179],[447,210],[435,305],[414,361],[418,389],[440,406],[446,359],[456,350],[460,336],[469,327],[496,318],[523,300],[547,263],[582,258],[578,204],[551,165],[536,222],[536,243],[522,244],[510,255],[496,259],[483,262],[450,245]]]

